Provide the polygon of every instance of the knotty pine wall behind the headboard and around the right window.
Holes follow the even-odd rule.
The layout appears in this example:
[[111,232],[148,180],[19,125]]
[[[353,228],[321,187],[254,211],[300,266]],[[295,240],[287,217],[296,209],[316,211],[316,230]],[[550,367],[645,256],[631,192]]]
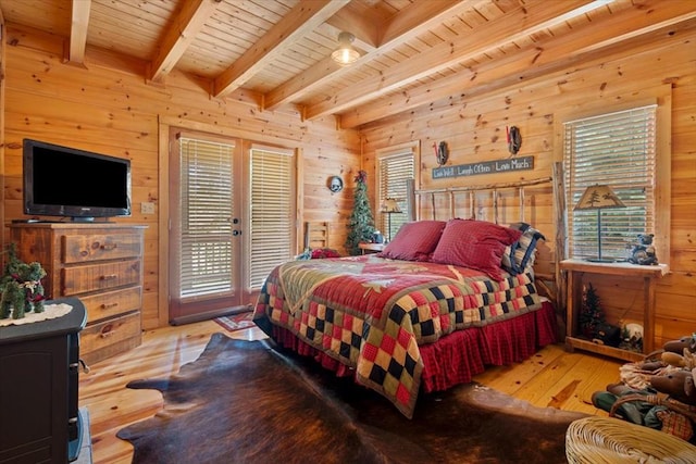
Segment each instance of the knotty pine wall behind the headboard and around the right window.
[[[471,75],[462,76],[462,83],[469,78],[475,78],[475,70]],[[362,127],[363,166],[373,173],[369,179],[374,183],[376,150],[420,140],[418,180],[421,188],[546,177],[551,175],[552,162],[562,161],[562,147],[558,141],[561,114],[601,112],[614,105],[656,98],[664,101],[670,97],[671,181],[670,181],[668,187],[671,187],[671,253],[658,258],[669,263],[671,273],[659,280],[657,288],[655,343],[660,347],[666,340],[696,331],[693,310],[696,308],[696,32],[664,36],[499,91],[468,96],[465,89],[452,88],[450,99]],[[518,156],[533,155],[534,171],[432,178],[431,170],[436,166],[433,142],[448,143],[448,165],[507,159],[506,126],[512,125],[520,127],[522,134]],[[664,191],[666,186],[658,183],[657,187]],[[369,191],[375,191],[374,185]],[[482,202],[485,205],[485,201]],[[527,216],[527,222],[535,224],[549,239],[545,243],[548,249],[542,253],[555,260],[551,197],[548,192],[539,192],[527,197],[525,202],[537,208],[532,216]],[[467,216],[464,210],[458,215]],[[425,212],[427,214],[430,211]],[[610,322],[623,318],[642,323],[639,281],[602,277],[595,279],[593,285],[597,287]],[[562,312],[559,314],[563,315]]]

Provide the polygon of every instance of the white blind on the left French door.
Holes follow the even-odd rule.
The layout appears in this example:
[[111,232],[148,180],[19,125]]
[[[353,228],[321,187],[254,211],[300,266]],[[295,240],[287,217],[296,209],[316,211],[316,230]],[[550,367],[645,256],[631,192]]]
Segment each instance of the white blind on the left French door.
[[232,291],[233,150],[179,138],[182,299]]

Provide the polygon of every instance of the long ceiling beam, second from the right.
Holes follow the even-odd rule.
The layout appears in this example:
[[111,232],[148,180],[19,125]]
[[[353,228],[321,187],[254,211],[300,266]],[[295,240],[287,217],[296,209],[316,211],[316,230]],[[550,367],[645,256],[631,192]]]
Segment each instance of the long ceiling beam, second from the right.
[[[308,108],[304,115],[308,120],[312,120],[340,113],[460,62],[486,52],[495,52],[515,40],[524,40],[530,35],[563,24],[576,15],[587,13],[593,7],[604,8],[606,3],[606,1],[591,0],[527,3],[492,21],[486,27],[463,35],[456,42],[444,41],[433,47],[427,53],[414,55],[410,60],[391,66],[386,75],[376,75],[347,87],[331,100]],[[511,29],[510,24],[515,24],[518,27]]]

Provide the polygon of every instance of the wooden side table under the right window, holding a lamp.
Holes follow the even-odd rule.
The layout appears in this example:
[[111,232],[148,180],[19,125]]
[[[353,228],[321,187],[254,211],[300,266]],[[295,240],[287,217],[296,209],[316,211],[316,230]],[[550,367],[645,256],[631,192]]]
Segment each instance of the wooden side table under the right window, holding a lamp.
[[[569,349],[577,348],[625,361],[641,361],[644,358],[644,353],[652,351],[655,340],[655,283],[669,272],[669,266],[666,264],[642,266],[631,263],[594,263],[576,259],[564,260],[560,264],[561,271],[568,273],[566,344]],[[591,340],[576,336],[579,313],[582,305],[582,277],[584,274],[629,276],[643,280],[643,353],[593,343]]]

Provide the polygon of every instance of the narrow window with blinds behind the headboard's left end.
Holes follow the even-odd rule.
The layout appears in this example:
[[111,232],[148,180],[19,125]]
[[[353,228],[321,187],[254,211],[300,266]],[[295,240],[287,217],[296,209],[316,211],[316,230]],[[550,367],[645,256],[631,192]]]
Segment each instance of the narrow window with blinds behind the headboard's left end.
[[[415,177],[415,151],[412,147],[378,155],[377,158],[377,228],[387,238],[393,238],[399,227],[408,221],[406,180]],[[397,201],[401,213],[384,213],[387,198]]]

